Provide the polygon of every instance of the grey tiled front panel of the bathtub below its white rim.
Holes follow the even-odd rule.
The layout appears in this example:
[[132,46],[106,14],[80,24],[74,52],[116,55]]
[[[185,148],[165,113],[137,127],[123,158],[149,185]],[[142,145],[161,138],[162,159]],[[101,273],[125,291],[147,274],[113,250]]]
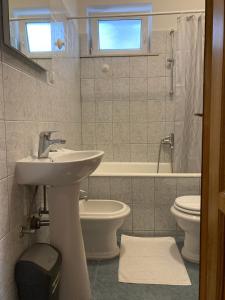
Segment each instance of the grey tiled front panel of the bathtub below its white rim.
[[178,234],[170,207],[178,196],[199,195],[199,177],[94,177],[83,182],[89,199],[112,199],[127,203],[131,214],[122,231],[128,233]]

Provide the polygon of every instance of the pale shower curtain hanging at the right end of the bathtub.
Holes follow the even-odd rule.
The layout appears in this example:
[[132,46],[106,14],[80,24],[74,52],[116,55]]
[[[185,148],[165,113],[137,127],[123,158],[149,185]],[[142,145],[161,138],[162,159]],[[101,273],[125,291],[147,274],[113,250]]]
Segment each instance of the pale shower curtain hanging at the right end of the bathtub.
[[205,16],[177,20],[174,169],[200,172],[202,154]]

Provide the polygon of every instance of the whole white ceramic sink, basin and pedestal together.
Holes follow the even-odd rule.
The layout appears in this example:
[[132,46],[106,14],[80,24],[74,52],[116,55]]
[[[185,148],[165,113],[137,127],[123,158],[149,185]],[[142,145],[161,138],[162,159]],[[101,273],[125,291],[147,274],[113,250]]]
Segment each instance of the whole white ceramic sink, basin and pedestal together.
[[49,158],[27,157],[16,164],[19,184],[47,185],[50,242],[62,253],[60,300],[91,300],[79,217],[80,181],[100,164],[103,151],[50,152]]

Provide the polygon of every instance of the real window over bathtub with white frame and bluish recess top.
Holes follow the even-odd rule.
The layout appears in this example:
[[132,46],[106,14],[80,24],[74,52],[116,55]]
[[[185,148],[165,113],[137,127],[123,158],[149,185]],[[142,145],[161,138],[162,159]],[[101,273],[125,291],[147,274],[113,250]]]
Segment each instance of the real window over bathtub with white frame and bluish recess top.
[[[90,51],[93,55],[146,54],[149,45],[149,17],[117,17],[118,14],[151,11],[149,4],[89,8],[92,16],[101,16],[89,23]],[[114,15],[104,18],[105,14]]]

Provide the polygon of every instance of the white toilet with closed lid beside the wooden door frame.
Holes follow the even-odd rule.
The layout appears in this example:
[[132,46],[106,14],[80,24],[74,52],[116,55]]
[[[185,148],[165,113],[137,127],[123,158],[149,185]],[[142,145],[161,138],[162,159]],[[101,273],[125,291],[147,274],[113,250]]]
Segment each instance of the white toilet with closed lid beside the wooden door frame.
[[200,256],[200,196],[183,196],[176,198],[171,207],[178,226],[185,232],[182,256],[191,262],[199,263]]

